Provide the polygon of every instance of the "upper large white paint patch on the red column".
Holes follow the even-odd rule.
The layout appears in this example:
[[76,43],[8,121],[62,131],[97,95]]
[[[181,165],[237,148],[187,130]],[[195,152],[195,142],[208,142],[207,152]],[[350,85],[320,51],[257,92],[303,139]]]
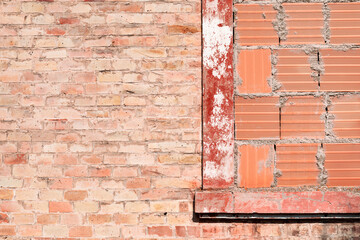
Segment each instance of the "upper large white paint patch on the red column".
[[203,19],[203,62],[218,79],[227,75],[227,53],[232,40],[232,29],[219,17],[218,0],[208,1],[207,14]]

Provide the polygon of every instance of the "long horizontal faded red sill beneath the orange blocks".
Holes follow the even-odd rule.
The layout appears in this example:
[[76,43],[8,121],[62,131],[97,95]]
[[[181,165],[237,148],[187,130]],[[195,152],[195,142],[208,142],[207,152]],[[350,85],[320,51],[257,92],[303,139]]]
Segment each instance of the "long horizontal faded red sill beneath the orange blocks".
[[314,217],[328,215],[334,218],[336,216],[332,214],[340,214],[336,218],[341,218],[341,215],[360,213],[360,194],[345,191],[201,191],[195,194],[195,212],[203,218],[211,218],[215,213],[246,214],[244,218],[254,218],[250,216],[254,214],[317,214]]

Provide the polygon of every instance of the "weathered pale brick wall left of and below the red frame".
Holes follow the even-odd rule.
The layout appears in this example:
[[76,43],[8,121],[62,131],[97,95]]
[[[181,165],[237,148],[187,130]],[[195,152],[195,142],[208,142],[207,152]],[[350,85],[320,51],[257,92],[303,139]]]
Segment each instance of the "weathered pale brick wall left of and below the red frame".
[[193,220],[200,1],[4,0],[0,11],[1,238],[360,235],[353,222]]

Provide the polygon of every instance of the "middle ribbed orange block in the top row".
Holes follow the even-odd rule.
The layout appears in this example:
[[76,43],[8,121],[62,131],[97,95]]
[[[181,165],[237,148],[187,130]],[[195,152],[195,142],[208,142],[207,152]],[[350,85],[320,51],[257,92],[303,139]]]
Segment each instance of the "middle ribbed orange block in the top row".
[[281,44],[325,43],[322,3],[284,3],[288,34]]

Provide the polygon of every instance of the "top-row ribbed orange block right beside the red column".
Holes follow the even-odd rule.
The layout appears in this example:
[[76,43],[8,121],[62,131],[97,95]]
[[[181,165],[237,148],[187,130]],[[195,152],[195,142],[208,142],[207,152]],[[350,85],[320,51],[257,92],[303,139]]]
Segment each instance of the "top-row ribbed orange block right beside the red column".
[[235,4],[236,43],[240,45],[278,45],[279,37],[272,22],[276,11],[272,5]]

